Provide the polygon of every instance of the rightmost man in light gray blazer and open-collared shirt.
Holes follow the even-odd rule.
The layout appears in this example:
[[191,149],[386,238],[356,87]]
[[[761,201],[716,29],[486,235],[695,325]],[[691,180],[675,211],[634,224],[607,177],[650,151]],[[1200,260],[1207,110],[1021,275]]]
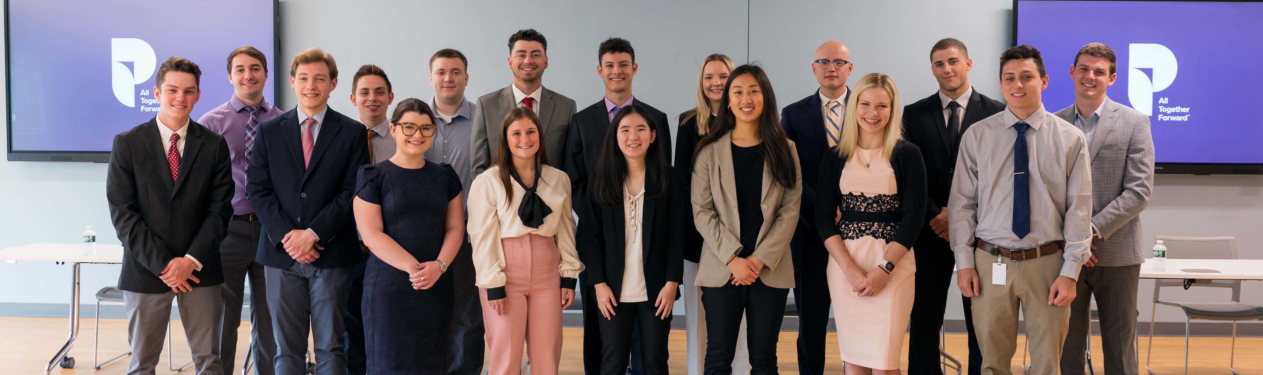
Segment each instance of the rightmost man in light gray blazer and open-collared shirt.
[[1079,49],[1070,77],[1075,104],[1057,117],[1087,136],[1092,169],[1092,256],[1079,274],[1080,298],[1071,303],[1062,374],[1084,374],[1084,345],[1091,330],[1089,295],[1100,311],[1105,374],[1137,374],[1135,298],[1144,246],[1140,211],[1153,192],[1149,117],[1105,96],[1118,78],[1114,51],[1090,43]]

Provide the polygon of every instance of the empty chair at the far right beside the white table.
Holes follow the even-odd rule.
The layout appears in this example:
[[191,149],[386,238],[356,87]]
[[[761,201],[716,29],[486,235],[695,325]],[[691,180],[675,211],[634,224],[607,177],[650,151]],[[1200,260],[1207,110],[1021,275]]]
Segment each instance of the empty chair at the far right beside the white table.
[[[1167,246],[1168,259],[1239,259],[1236,254],[1235,237],[1175,237],[1154,236]],[[1202,321],[1231,321],[1233,346],[1229,351],[1228,370],[1234,375],[1236,370],[1233,365],[1236,360],[1236,322],[1263,319],[1263,307],[1240,303],[1240,280],[1210,280],[1196,282],[1192,287],[1229,288],[1233,292],[1230,302],[1204,302],[1204,301],[1163,301],[1159,299],[1162,288],[1185,287],[1185,280],[1157,279],[1153,283],[1153,316],[1149,318],[1149,348],[1144,356],[1144,369],[1151,375],[1157,375],[1149,369],[1149,359],[1153,354],[1153,326],[1157,317],[1157,306],[1166,304],[1178,307],[1185,313],[1185,374],[1188,374],[1188,327],[1192,319]]]

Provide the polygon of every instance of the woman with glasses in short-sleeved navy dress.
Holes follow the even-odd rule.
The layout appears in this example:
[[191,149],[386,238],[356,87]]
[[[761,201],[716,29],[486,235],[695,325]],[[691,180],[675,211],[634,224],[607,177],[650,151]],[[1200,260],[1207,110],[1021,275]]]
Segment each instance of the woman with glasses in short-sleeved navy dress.
[[360,168],[355,223],[373,250],[364,271],[369,374],[445,374],[452,279],[465,236],[461,181],[422,154],[434,136],[426,102],[407,98],[390,116],[395,154]]

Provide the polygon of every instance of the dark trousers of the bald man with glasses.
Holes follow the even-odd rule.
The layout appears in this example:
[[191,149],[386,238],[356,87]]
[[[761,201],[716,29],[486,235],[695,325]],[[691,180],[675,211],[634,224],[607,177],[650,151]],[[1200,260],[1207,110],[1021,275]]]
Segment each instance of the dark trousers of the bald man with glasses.
[[798,309],[798,374],[825,374],[825,333],[829,330],[829,250],[816,230],[798,223],[789,241],[793,256],[793,304]]

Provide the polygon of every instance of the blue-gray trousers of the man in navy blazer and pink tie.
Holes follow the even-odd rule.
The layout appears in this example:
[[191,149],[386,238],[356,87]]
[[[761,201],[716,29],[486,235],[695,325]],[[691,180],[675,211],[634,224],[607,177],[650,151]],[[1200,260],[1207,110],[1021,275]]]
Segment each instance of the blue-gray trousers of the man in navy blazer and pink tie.
[[[277,374],[307,374],[307,333],[314,338],[316,374],[345,375],[344,312],[351,268],[321,269],[296,263],[288,269],[264,266],[268,309],[277,340]],[[312,330],[309,330],[312,328]]]

